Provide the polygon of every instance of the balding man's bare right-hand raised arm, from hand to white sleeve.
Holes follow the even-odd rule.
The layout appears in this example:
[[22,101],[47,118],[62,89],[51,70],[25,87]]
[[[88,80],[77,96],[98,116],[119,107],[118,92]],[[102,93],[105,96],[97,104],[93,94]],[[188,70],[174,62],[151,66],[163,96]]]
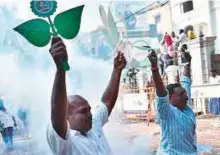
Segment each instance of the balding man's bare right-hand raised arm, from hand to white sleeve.
[[118,52],[117,57],[114,59],[114,69],[111,75],[110,82],[102,96],[102,102],[107,106],[109,115],[111,114],[118,97],[121,72],[125,68],[125,66],[126,60],[124,54]]

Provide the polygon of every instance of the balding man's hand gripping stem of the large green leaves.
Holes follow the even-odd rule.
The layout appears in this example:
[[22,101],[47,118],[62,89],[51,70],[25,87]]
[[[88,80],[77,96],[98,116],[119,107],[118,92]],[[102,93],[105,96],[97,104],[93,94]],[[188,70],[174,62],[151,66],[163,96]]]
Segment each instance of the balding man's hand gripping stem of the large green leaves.
[[62,61],[68,59],[66,46],[60,37],[53,37],[50,53],[58,70],[63,70]]

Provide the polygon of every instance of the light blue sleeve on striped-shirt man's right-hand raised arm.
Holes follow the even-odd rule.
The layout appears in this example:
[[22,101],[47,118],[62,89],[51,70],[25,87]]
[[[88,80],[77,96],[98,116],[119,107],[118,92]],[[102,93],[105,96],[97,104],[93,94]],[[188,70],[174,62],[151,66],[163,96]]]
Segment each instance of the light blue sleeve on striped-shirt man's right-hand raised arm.
[[187,93],[187,97],[188,97],[188,101],[187,101],[187,104],[188,106],[192,106],[192,101],[191,101],[191,84],[192,84],[192,81],[189,77],[187,76],[183,76],[182,79],[180,80],[180,84],[183,88],[186,89],[186,93]]

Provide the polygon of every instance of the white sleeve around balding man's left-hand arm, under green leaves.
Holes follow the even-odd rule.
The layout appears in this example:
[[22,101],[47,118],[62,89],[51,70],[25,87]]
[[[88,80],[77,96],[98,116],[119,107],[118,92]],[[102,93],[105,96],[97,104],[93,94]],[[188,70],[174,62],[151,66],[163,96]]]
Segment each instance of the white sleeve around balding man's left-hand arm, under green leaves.
[[61,138],[54,130],[52,123],[47,127],[47,142],[53,154],[63,155],[71,150],[71,136],[69,122],[67,123],[67,131],[65,139]]

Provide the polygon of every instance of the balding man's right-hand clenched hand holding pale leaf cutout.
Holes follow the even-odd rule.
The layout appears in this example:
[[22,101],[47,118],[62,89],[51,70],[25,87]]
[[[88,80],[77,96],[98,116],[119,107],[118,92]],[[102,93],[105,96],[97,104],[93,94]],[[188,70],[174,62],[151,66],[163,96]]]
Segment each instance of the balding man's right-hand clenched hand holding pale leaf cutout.
[[117,56],[114,59],[114,69],[123,70],[127,62],[124,56],[124,53],[118,52]]

